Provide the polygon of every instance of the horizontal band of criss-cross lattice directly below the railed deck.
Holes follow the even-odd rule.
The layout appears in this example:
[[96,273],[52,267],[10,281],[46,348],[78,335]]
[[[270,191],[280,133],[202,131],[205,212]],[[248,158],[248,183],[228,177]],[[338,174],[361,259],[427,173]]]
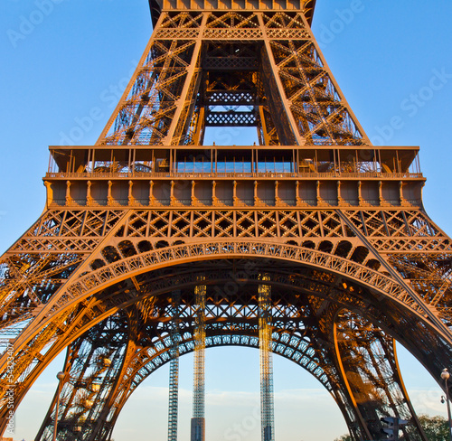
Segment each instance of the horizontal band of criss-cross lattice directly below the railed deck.
[[[384,210],[309,210],[309,209],[205,209],[155,208],[146,210],[74,209],[46,211],[42,218],[19,239],[2,258],[5,283],[13,286],[41,272],[35,258],[47,255],[65,256],[92,254],[118,229],[116,237],[149,239],[292,239],[302,244],[306,239],[353,240],[356,233],[339,213],[368,239],[381,254],[445,254],[450,239],[424,211],[417,209]],[[174,240],[175,239],[175,240]],[[121,250],[127,256],[127,250]],[[24,256],[29,256],[26,265]],[[56,259],[56,258],[53,258]],[[59,263],[61,265],[61,263]],[[45,265],[44,265],[45,267]],[[23,280],[23,279],[22,279]]]

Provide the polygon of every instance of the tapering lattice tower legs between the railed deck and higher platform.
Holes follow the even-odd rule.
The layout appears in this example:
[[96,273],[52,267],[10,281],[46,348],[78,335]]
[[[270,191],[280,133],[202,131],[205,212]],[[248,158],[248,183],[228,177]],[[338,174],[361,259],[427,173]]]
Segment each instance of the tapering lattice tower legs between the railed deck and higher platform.
[[98,144],[199,145],[208,126],[254,126],[266,145],[370,144],[297,12],[163,12]]

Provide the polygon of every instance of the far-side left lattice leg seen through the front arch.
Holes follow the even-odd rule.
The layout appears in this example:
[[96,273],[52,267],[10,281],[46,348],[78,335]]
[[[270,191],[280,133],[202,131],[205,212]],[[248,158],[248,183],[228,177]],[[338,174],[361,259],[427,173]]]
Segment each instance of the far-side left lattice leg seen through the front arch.
[[[81,434],[83,439],[108,435],[111,427],[99,421],[108,419],[117,378],[130,352],[128,327],[125,314],[112,315],[68,347],[58,439],[75,440]],[[36,439],[52,439],[53,424],[47,423],[54,421],[55,400],[56,396]]]

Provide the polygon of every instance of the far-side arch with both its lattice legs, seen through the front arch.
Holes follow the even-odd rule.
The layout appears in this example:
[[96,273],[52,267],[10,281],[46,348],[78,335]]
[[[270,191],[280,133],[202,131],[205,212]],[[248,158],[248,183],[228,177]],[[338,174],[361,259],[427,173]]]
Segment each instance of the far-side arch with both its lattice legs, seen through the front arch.
[[[205,277],[207,282],[210,276],[207,273]],[[253,277],[255,286],[243,283],[240,295],[234,298],[226,293],[219,294],[223,285],[209,287],[206,298],[207,347],[245,345],[259,348],[258,324],[262,315],[259,314],[262,308],[259,269]],[[273,280],[273,277],[269,275],[268,281]],[[199,283],[198,276],[193,277],[193,283],[196,282]],[[272,351],[304,367],[330,391],[343,410],[353,436],[356,439],[370,434],[375,436],[380,427],[374,419],[391,414],[409,419],[407,439],[418,439],[411,437],[418,431],[418,422],[396,371],[392,339],[363,317],[351,314],[327,299],[287,296],[284,288],[273,286],[272,289],[275,293],[271,299],[274,326],[270,341]],[[179,311],[181,354],[194,351],[197,309],[193,287],[183,289]],[[319,310],[323,311],[322,316],[318,315]],[[70,380],[61,392],[63,416],[59,425],[59,439],[75,439],[79,427],[80,432],[89,434],[84,438],[89,441],[104,440],[111,435],[120,410],[133,391],[148,375],[172,360],[172,324],[165,320],[165,317],[171,317],[170,314],[172,305],[168,296],[154,300],[148,298],[137,302],[137,305],[127,310],[127,314],[114,315],[99,323],[71,344],[66,362]],[[132,325],[130,322],[127,324],[127,316],[133,317]],[[338,330],[336,333],[333,331],[334,323]],[[103,350],[95,351],[92,348],[93,345],[102,347],[103,339],[113,329],[118,330],[115,342],[118,342],[117,351],[122,354],[116,359],[113,352],[106,354]],[[130,329],[127,349],[124,349],[124,333],[121,331],[125,329]],[[80,353],[83,351],[87,353]],[[88,359],[84,367],[100,368],[80,368],[77,364],[78,354],[84,360]],[[106,356],[112,360],[108,369]],[[117,380],[101,380],[111,378]],[[358,378],[368,387],[356,389]],[[102,390],[92,387],[92,384],[99,384],[100,381],[103,381]],[[93,390],[97,391],[99,397],[93,395]],[[68,413],[66,408],[74,397],[78,398],[76,408],[80,411]],[[52,427],[51,408],[35,439],[45,439],[46,434],[49,436],[52,433]]]

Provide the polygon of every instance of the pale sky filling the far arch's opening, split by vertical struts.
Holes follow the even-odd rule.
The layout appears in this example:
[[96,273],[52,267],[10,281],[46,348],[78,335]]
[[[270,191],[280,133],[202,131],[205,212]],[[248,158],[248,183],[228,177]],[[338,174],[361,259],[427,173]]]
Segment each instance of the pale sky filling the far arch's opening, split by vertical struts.
[[[281,356],[273,361],[277,439],[334,439],[348,431],[334,399],[312,375]],[[206,363],[206,437],[260,441],[259,351],[236,346],[208,348]],[[165,439],[168,375],[165,365],[140,385],[123,408],[112,438],[126,441],[133,427],[135,439],[142,439],[152,426],[155,439]],[[180,359],[180,381],[179,439],[188,441],[192,353]],[[322,423],[326,414],[328,425]],[[149,426],[143,424],[144,415]]]

